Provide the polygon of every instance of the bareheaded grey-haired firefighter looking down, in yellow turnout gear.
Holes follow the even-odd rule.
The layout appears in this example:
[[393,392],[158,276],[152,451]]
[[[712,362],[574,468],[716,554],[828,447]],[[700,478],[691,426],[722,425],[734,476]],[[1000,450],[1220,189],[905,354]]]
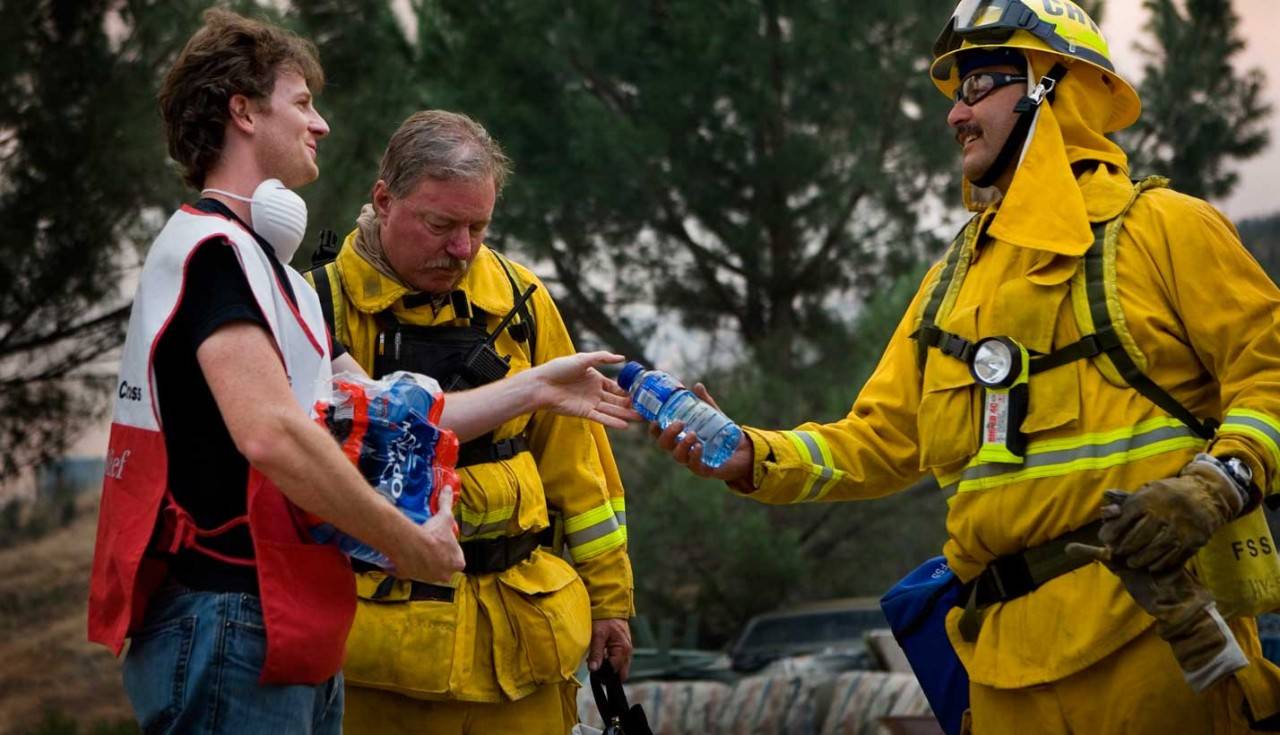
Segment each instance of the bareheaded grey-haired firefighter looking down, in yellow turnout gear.
[[[538,278],[480,243],[504,169],[462,115],[419,113],[393,136],[372,204],[337,260],[308,274],[334,338],[371,375],[413,370],[445,389],[454,376],[452,388],[489,382],[502,360],[475,356],[508,315],[492,347],[511,374],[573,353]],[[563,735],[589,644],[593,663],[630,662],[626,508],[603,428],[516,416],[466,442],[458,466],[466,572],[451,586],[357,575],[347,732]],[[572,565],[553,549],[549,513]]]

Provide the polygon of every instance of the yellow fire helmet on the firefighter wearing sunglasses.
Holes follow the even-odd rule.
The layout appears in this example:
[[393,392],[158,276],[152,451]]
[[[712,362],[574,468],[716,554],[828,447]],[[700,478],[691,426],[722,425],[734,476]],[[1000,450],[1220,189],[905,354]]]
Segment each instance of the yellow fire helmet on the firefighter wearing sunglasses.
[[1111,115],[1103,133],[1132,125],[1142,111],[1138,92],[1111,64],[1102,31],[1071,0],[960,0],[933,44],[933,85],[955,99],[960,76],[956,55],[970,49],[1024,49],[1059,56],[1070,68],[1098,68],[1111,90]]

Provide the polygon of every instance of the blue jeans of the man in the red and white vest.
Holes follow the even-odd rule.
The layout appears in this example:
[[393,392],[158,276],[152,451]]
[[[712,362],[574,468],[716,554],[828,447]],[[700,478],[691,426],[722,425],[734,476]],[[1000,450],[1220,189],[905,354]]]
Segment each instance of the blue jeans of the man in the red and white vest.
[[147,735],[339,735],[342,675],[262,686],[265,657],[257,597],[168,585],[129,642],[124,691]]

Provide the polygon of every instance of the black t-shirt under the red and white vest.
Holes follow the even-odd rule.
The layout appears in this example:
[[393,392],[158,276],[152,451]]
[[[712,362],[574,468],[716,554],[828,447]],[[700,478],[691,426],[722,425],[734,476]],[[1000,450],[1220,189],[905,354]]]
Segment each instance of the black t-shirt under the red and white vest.
[[[216,200],[202,198],[195,207],[241,222]],[[296,302],[275,251],[257,234],[253,237],[266,252],[289,300]],[[227,239],[214,238],[191,256],[182,301],[155,355],[156,396],[169,455],[169,488],[201,529],[215,529],[246,511],[248,461],[236,449],[196,360],[201,343],[218,328],[234,321],[268,328],[236,251]],[[243,369],[255,370],[256,366],[244,365]],[[246,525],[200,542],[223,554],[253,556]],[[192,589],[257,593],[253,567],[225,563],[191,549],[170,557],[169,571],[175,581]]]

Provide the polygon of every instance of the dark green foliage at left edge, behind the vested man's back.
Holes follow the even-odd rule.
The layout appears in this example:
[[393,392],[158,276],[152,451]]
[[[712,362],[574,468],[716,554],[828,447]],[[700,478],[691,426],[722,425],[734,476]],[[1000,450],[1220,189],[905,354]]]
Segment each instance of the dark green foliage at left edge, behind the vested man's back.
[[128,245],[174,201],[154,93],[179,6],[0,3],[0,478],[105,407]]

